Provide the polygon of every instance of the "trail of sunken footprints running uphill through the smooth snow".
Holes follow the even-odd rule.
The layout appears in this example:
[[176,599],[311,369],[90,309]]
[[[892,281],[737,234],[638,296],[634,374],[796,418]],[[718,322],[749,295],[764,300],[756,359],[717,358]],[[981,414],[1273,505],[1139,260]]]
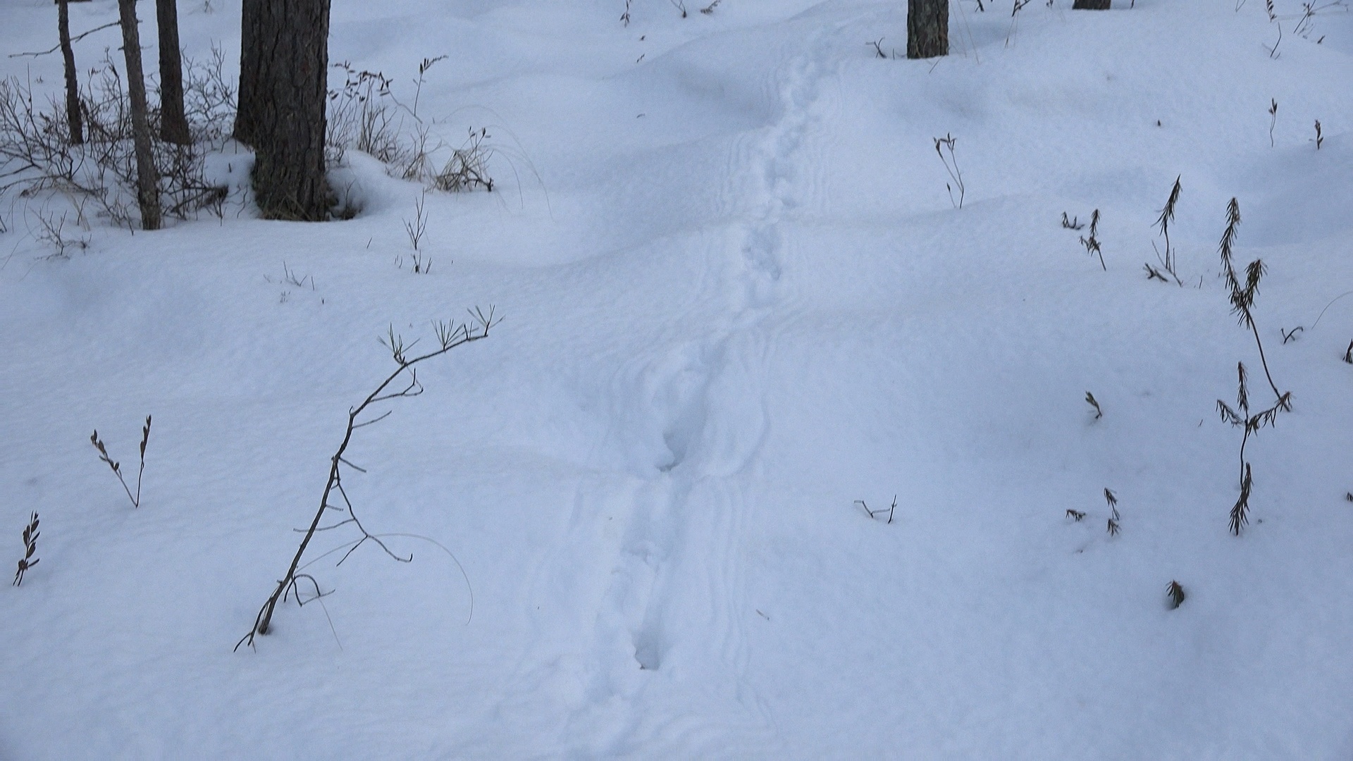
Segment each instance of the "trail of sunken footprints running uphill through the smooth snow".
[[[774,743],[764,700],[741,681],[750,659],[744,627],[756,613],[741,594],[748,505],[739,477],[752,466],[769,425],[763,375],[774,329],[767,318],[792,301],[781,278],[782,221],[821,191],[809,142],[819,137],[820,92],[833,74],[831,42],[819,28],[775,68],[769,84],[777,91],[777,121],[731,150],[723,198],[733,222],[710,252],[706,283],[717,291],[709,301],[721,303],[721,313],[704,336],[641,360],[636,374],[643,383],[637,395],[666,420],[668,454],[636,496],[598,612],[595,677],[606,687],[594,691],[599,700],[591,711],[620,710],[622,716],[610,718],[612,731],[601,735],[606,743],[591,750],[713,750],[729,737],[755,738],[762,752]],[[721,685],[718,695],[706,696],[727,705],[713,714],[718,726],[701,726],[682,711],[652,718],[658,697],[648,691],[671,669],[695,670]],[[733,726],[740,731],[731,733]]]

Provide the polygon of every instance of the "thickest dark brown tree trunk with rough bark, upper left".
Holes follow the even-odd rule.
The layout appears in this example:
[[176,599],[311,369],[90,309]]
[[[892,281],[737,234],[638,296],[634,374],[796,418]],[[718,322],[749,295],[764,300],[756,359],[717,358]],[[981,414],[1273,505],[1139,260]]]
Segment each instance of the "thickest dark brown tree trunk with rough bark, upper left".
[[[254,199],[271,219],[322,221],[329,84],[329,0],[260,3],[252,41],[258,72],[252,126]],[[237,121],[237,127],[239,121]]]

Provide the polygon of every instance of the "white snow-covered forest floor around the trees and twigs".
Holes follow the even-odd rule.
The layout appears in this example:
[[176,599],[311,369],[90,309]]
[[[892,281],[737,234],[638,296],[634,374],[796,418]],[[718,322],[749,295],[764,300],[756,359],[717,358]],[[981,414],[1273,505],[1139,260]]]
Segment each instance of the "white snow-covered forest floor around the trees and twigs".
[[[0,594],[0,758],[1353,757],[1353,297],[1315,324],[1353,290],[1353,12],[1302,37],[1276,0],[1273,57],[1260,0],[959,0],[907,61],[869,45],[905,49],[902,0],[700,5],[336,0],[333,61],[407,100],[448,56],[419,112],[499,150],[494,192],[426,196],[429,274],[419,186],[356,152],[346,222],[234,198],[47,259],[5,200],[0,561],[42,536]],[[188,53],[237,60],[238,12],[180,3]],[[0,7],[5,53],[54,27]],[[1142,267],[1177,176],[1183,287]],[[1238,362],[1272,393],[1218,278],[1233,196],[1295,399],[1239,538],[1216,401]],[[1093,210],[1107,271],[1061,225]],[[377,336],[476,305],[502,324],[348,454],[414,561],[321,534],[323,607],[231,651]],[[133,509],[89,433],[134,470],[146,414]]]

